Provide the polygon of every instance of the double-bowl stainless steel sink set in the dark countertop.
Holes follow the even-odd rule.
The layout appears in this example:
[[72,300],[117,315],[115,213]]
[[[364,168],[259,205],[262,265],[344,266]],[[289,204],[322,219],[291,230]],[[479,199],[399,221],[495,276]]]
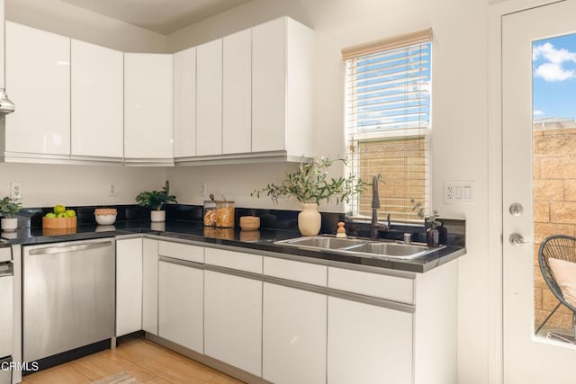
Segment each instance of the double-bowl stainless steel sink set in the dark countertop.
[[275,242],[283,246],[296,246],[314,250],[329,250],[338,254],[358,257],[388,257],[394,259],[413,259],[444,248],[418,246],[361,238],[338,238],[330,236],[299,237]]

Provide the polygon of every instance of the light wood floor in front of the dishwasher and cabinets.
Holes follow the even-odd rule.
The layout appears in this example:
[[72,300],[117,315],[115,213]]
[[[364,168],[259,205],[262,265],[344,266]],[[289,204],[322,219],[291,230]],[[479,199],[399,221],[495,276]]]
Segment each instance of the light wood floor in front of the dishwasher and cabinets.
[[121,340],[115,350],[94,353],[73,362],[24,376],[23,382],[84,384],[121,372],[128,373],[145,384],[242,382],[141,337]]

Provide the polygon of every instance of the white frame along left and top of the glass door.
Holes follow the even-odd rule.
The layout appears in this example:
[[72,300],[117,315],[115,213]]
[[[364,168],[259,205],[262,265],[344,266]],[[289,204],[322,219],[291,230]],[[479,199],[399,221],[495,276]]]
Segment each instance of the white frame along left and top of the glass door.
[[488,13],[488,363],[490,383],[503,383],[502,18],[563,0],[491,0]]

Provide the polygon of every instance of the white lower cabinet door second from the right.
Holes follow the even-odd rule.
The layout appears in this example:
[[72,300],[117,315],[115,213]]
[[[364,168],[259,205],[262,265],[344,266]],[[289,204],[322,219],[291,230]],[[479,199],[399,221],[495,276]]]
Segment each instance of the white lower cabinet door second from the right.
[[264,283],[263,379],[326,383],[327,296]]

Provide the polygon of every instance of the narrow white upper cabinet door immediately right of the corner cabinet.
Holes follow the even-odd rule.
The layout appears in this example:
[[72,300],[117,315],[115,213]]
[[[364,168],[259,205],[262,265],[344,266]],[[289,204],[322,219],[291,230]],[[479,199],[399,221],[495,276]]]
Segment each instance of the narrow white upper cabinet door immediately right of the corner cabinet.
[[174,156],[196,156],[196,47],[174,54]]

